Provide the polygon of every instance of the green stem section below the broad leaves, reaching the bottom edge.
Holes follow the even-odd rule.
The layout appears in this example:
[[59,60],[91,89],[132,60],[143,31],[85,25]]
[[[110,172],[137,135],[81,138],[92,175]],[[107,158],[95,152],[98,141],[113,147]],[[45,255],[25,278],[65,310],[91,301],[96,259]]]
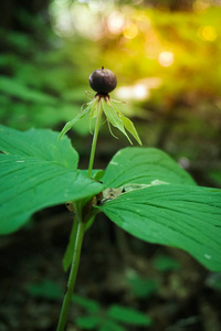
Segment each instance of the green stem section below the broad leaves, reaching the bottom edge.
[[73,254],[73,259],[72,259],[72,266],[71,266],[67,288],[66,288],[66,292],[64,296],[56,331],[64,331],[67,314],[69,314],[69,309],[70,309],[70,305],[71,305],[71,300],[72,300],[72,295],[73,295],[73,290],[74,290],[74,286],[75,286],[75,281],[76,281],[76,275],[77,275],[77,270],[78,270],[85,223],[83,222],[83,220],[81,217],[77,217],[77,220],[75,220],[75,222],[77,222],[77,233],[76,233],[76,239],[75,239],[74,254]]

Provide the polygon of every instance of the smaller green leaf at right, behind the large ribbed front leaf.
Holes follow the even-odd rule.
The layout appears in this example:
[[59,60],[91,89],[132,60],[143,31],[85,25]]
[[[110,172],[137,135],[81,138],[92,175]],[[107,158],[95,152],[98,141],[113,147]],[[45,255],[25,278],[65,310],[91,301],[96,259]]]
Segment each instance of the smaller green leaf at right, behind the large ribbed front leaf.
[[127,147],[119,150],[102,179],[106,188],[125,184],[194,185],[192,178],[168,154],[155,148]]

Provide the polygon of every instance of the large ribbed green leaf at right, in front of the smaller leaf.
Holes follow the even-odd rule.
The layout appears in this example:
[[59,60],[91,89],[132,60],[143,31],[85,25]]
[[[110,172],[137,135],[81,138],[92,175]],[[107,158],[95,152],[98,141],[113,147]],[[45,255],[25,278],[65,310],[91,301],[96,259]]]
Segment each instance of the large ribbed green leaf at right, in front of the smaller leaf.
[[221,270],[221,190],[152,185],[98,209],[131,235],[181,248],[209,269]]

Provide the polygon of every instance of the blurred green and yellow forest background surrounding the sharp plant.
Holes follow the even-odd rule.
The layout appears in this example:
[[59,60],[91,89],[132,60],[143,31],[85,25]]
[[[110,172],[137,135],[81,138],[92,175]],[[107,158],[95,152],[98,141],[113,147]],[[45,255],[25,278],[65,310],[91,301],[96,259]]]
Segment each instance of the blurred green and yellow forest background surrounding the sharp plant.
[[[126,102],[120,110],[135,122],[144,146],[168,152],[199,184],[221,188],[220,1],[2,1],[2,125],[60,131],[93,97],[85,95],[88,76],[102,66],[116,74],[110,97]],[[104,122],[97,168],[105,169],[128,146],[113,132],[118,139]],[[86,169],[88,119],[69,137]],[[1,238],[0,331],[55,330],[61,298],[52,300],[51,281],[65,288],[62,257],[71,226],[72,215],[56,206]],[[150,314],[151,331],[220,331],[220,275],[183,252],[137,241],[102,215],[86,234],[76,291],[98,301],[104,319],[117,302]],[[76,325],[82,316],[75,307],[67,330],[86,330]]]

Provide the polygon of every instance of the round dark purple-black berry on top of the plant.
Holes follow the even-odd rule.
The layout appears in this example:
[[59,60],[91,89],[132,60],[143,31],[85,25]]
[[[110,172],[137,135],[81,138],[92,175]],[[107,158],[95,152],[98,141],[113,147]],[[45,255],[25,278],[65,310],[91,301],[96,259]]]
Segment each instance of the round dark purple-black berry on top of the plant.
[[112,71],[102,67],[91,74],[90,85],[98,94],[108,94],[117,86],[117,77]]

